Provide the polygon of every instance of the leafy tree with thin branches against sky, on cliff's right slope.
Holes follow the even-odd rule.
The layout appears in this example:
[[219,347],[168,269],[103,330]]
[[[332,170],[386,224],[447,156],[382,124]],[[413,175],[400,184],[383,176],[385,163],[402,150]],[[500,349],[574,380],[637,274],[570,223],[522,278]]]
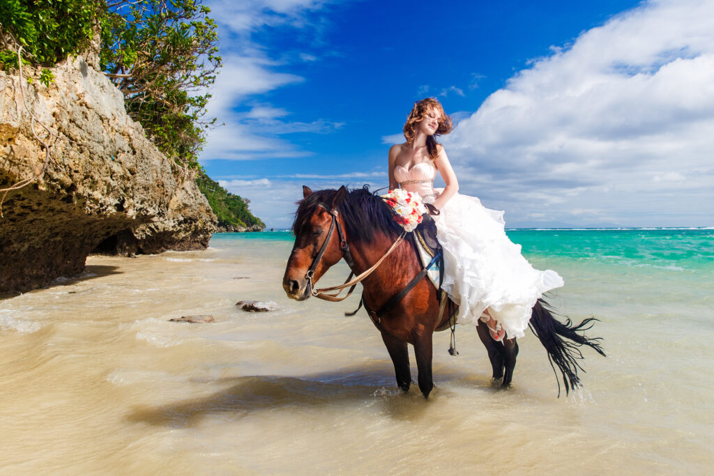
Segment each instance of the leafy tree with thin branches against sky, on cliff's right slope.
[[126,111],[184,171],[198,168],[208,86],[221,67],[216,23],[201,0],[114,0],[102,29],[101,67]]

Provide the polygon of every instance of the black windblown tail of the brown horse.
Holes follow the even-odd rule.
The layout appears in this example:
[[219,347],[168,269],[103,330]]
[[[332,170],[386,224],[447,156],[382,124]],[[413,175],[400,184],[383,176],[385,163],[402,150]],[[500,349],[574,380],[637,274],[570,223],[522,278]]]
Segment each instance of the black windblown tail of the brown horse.
[[[585,370],[580,367],[578,360],[583,359],[583,353],[580,352],[580,347],[588,345],[595,349],[600,355],[605,356],[603,348],[600,347],[599,341],[601,338],[588,338],[585,335],[580,335],[576,331],[583,332],[593,327],[595,318],[588,318],[582,323],[575,325],[570,319],[561,323],[553,318],[548,303],[543,299],[538,299],[538,303],[533,306],[533,314],[531,315],[531,330],[538,337],[540,343],[543,344],[545,350],[548,351],[548,360],[550,366],[555,372],[555,380],[558,382],[558,397],[560,397],[560,380],[558,380],[558,372],[555,370],[555,365],[563,374],[563,384],[565,385],[565,395],[568,395],[571,389],[580,386],[580,378],[578,377],[578,369]],[[570,340],[567,342],[560,336]]]

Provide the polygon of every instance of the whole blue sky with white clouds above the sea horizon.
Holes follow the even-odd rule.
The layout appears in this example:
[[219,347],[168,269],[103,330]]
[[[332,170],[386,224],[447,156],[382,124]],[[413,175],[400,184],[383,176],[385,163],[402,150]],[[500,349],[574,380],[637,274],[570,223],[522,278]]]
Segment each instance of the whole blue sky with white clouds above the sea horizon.
[[386,187],[428,96],[460,193],[507,228],[714,226],[714,1],[206,5],[223,125],[200,161],[268,228],[303,185]]

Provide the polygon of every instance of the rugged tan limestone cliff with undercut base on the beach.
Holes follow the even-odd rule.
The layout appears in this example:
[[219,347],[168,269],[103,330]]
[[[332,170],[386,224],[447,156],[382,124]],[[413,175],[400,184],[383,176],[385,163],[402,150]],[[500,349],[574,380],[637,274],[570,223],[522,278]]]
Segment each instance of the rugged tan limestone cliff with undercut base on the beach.
[[16,74],[0,71],[0,188],[41,170],[45,151],[33,128],[51,141],[44,176],[2,205],[0,293],[81,273],[94,250],[205,248],[216,228],[208,201],[191,178],[177,181],[122,94],[81,57],[52,72],[49,87],[21,90]]

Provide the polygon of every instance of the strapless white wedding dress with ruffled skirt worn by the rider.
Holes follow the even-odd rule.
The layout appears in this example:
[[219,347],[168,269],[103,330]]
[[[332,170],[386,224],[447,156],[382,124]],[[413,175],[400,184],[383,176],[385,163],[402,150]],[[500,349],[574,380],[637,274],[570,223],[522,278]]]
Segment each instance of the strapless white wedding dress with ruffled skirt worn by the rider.
[[[443,190],[433,188],[436,173],[428,162],[394,168],[401,188],[416,191],[426,203]],[[521,255],[521,245],[506,236],[503,212],[489,210],[476,197],[456,193],[433,218],[444,253],[442,288],[459,305],[458,323],[478,325],[488,309],[507,338],[523,337],[536,300],[560,288],[563,278],[534,269]]]

